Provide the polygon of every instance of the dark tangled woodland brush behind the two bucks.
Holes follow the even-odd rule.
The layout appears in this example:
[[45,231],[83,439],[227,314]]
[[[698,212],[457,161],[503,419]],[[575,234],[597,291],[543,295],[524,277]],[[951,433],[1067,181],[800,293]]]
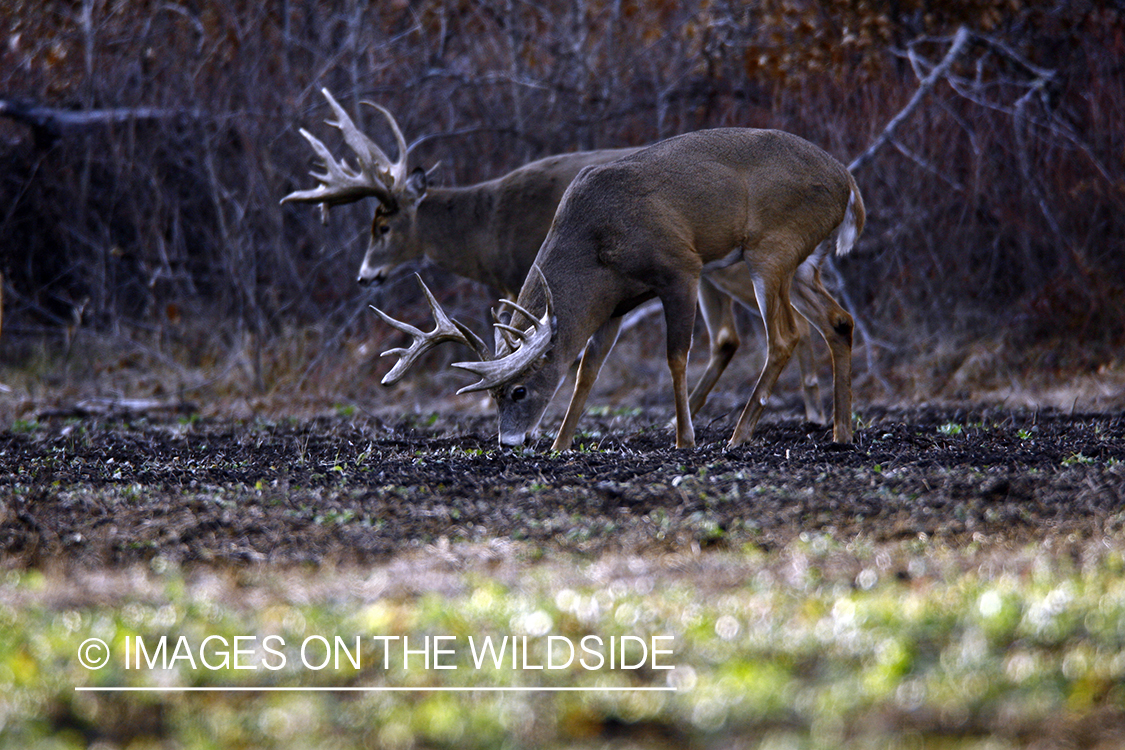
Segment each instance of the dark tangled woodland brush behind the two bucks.
[[[832,282],[857,343],[884,372],[938,379],[982,341],[1009,369],[1119,369],[1125,10],[1082,0],[8,0],[0,360],[86,341],[237,363],[259,391],[354,363],[338,353],[385,369],[367,304],[425,310],[413,284],[354,283],[372,207],[325,228],[278,204],[313,183],[298,127],[339,146],[321,87],[388,107],[443,184],[718,126],[791,130],[848,163],[962,27],[856,165],[868,224]],[[490,297],[442,289],[475,310]]]

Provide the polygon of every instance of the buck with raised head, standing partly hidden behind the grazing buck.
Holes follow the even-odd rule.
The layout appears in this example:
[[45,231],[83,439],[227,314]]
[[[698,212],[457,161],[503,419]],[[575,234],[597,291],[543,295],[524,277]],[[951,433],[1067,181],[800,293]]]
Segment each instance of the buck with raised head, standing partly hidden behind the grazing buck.
[[[406,139],[390,112],[366,102],[387,118],[397,146],[397,161],[392,161],[359,130],[326,89],[322,92],[335,116],[335,120],[328,120],[328,124],[343,135],[354,154],[357,166],[344,160],[336,162],[324,143],[302,129],[302,135],[324,162],[325,171],[323,174],[313,172],[321,183],[316,188],[289,193],[281,202],[320,204],[327,209],[368,197],[376,198],[378,205],[358,279],[364,284],[381,283],[396,266],[425,256],[443,270],[485,283],[504,297],[515,299],[547,236],[562,193],[578,172],[640,151],[619,148],[561,154],[531,162],[502,178],[479,184],[430,188],[425,170],[410,170]],[[740,290],[734,297],[748,299],[749,307],[757,309],[745,268],[716,271],[711,281],[704,277],[700,283],[700,307],[709,333],[710,358],[706,370],[692,390],[692,414],[703,407],[740,343],[732,296],[718,287]],[[824,416],[812,349],[807,335],[808,325],[803,318],[798,320],[798,325],[801,332],[798,359],[802,371],[806,416],[821,423]],[[399,361],[382,382],[396,382],[414,359],[440,341],[448,340],[439,337],[416,343],[411,350],[411,359]]]

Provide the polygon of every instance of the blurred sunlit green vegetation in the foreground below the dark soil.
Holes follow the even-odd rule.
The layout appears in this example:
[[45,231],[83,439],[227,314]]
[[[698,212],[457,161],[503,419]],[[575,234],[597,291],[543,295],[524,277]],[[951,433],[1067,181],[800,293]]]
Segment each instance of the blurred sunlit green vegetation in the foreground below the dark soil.
[[[459,545],[431,550],[447,564],[411,576],[440,580],[440,595],[411,593],[396,575],[404,563],[394,561],[317,576],[179,569],[159,559],[74,579],[9,571],[0,582],[0,744],[1018,748],[1116,747],[1125,732],[1119,544],[997,555],[809,535],[771,553],[536,560],[529,552],[508,548],[502,562],[482,567]],[[269,635],[286,643],[273,642],[288,654],[285,668],[261,668],[280,663],[253,650]],[[456,653],[442,659],[458,668],[425,669],[413,656],[403,670],[398,651],[385,669],[385,641],[374,635],[414,644],[453,636],[443,648]],[[673,635],[662,642],[673,654],[660,659],[676,669],[476,669],[467,639],[505,635],[538,644],[530,665],[546,662],[547,635],[575,643]],[[223,639],[195,652],[219,667],[224,644],[231,654],[235,636],[254,636],[241,659],[259,669],[194,669],[182,652],[170,669],[135,661],[125,669],[126,639],[138,636],[150,645],[168,636],[169,656],[180,638],[192,648]],[[340,636],[350,649],[361,636],[360,668],[303,666],[297,647],[309,636]],[[104,669],[78,661],[90,638],[112,650]],[[314,667],[327,656],[317,643],[308,651]],[[74,690],[107,686],[172,692]],[[174,692],[269,686],[676,692]]]

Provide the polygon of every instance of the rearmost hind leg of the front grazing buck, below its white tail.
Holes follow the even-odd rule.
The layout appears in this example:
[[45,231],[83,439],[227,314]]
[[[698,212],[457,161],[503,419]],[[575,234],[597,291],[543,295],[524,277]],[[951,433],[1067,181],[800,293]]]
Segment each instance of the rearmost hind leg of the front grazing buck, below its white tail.
[[852,332],[855,322],[820,281],[819,256],[793,278],[793,304],[828,343],[832,358],[832,440],[852,442]]

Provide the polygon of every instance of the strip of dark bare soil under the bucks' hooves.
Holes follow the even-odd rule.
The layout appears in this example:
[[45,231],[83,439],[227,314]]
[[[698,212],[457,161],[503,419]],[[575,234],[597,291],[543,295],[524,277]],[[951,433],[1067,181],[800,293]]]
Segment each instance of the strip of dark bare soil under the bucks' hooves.
[[586,416],[580,450],[495,446],[490,418],[46,418],[0,433],[7,567],[385,560],[443,540],[597,554],[800,534],[1025,544],[1125,526],[1125,416],[867,409],[854,446],[796,421],[724,451],[667,415]]

